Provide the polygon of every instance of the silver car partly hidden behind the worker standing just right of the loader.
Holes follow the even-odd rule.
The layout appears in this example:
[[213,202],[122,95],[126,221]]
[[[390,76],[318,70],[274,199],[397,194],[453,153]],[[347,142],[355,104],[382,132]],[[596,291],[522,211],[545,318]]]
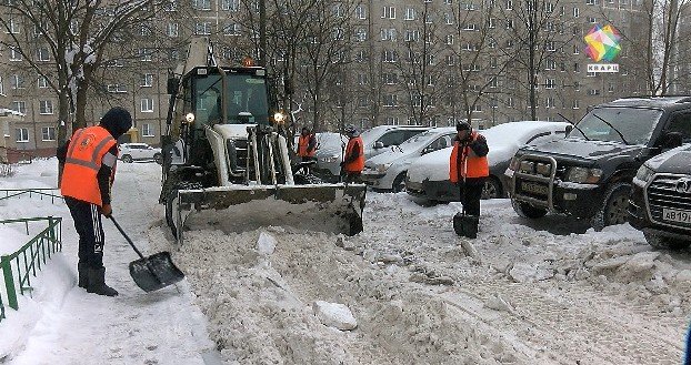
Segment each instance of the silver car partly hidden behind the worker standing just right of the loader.
[[[364,159],[367,160],[389,151],[391,146],[399,145],[430,128],[419,125],[379,125],[367,130],[361,134],[362,143],[364,143]],[[348,138],[345,138],[344,143],[348,143]],[[328,148],[320,146],[317,150],[317,165],[312,171],[324,181],[338,181],[345,144],[338,148],[336,148],[336,143],[329,143],[328,145]]]

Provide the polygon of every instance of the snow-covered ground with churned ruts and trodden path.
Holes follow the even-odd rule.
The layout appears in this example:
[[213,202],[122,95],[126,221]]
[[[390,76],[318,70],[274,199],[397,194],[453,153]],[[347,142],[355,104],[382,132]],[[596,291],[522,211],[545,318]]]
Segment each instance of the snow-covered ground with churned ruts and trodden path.
[[[0,189],[54,186],[54,160]],[[146,294],[136,260],[104,222],[116,298],[76,287],[77,235],[61,203],[12,200],[0,219],[63,216],[63,254],[0,323],[8,364],[679,364],[691,316],[691,252],[653,251],[629,225],[518,217],[482,202],[478,240],[451,227],[455,203],[419,206],[368,192],[353,237],[266,227],[186,234],[172,247],[157,204],[159,166],[119,164],[113,210],[146,253],[187,274]],[[21,227],[0,226],[0,251]],[[575,232],[575,233],[572,233]],[[357,327],[324,325],[323,302]],[[333,318],[331,318],[333,320]],[[333,324],[333,323],[330,323]]]

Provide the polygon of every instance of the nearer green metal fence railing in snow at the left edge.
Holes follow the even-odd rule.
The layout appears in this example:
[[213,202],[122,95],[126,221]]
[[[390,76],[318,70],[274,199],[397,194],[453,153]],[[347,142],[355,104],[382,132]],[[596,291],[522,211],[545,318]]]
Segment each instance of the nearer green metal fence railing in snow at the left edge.
[[[54,216],[26,217],[3,220],[0,224],[23,223],[29,234],[30,222],[48,222],[48,226],[38,233],[28,243],[9,255],[0,256],[0,270],[4,278],[7,303],[13,310],[19,310],[17,293],[23,295],[31,291],[31,277],[42,268],[49,258],[62,251],[62,219]],[[0,295],[0,321],[4,318],[4,305]]]

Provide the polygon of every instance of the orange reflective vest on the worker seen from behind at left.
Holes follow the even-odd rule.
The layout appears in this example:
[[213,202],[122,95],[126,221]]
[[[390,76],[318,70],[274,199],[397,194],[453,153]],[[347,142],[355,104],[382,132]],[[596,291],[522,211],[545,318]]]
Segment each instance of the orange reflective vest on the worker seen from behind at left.
[[64,160],[60,191],[96,205],[103,205],[97,174],[103,155],[117,141],[100,125],[87,126],[74,132]]

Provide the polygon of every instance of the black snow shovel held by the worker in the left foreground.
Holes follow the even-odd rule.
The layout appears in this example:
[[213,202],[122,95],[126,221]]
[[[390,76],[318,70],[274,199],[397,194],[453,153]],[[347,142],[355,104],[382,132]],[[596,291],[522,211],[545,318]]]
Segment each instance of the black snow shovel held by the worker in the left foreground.
[[124,233],[120,224],[116,222],[116,219],[111,215],[110,220],[113,222],[118,231],[122,234],[127,243],[134,249],[134,252],[139,255],[139,260],[130,263],[130,276],[137,283],[137,286],[141,287],[144,292],[153,292],[168,285],[174,284],[184,278],[184,274],[173,264],[170,258],[170,253],[159,252],[149,257],[137,250],[134,243]]

